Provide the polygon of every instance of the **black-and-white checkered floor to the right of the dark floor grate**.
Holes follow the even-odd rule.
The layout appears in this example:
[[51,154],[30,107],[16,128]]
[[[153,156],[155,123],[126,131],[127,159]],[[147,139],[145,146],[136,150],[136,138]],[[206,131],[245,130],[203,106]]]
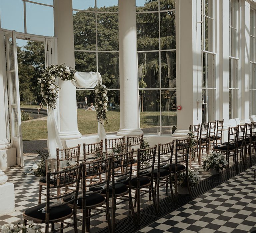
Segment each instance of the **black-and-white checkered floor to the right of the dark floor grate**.
[[232,232],[256,230],[253,166],[139,232]]

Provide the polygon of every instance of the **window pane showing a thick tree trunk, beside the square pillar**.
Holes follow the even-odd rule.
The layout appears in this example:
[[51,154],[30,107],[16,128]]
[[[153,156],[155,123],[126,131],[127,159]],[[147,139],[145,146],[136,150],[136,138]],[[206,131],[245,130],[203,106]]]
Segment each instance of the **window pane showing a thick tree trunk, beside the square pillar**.
[[161,86],[176,88],[176,51],[161,52]]

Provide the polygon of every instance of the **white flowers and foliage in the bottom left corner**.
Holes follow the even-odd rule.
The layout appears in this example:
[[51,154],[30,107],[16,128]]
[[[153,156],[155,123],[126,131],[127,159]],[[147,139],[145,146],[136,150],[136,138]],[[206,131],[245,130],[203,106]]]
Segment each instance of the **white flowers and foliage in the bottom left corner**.
[[11,232],[22,232],[22,233],[37,233],[42,232],[41,226],[34,225],[33,221],[28,221],[27,226],[23,226],[21,221],[17,221],[14,223],[8,223],[3,226],[0,226],[2,233],[11,233]]

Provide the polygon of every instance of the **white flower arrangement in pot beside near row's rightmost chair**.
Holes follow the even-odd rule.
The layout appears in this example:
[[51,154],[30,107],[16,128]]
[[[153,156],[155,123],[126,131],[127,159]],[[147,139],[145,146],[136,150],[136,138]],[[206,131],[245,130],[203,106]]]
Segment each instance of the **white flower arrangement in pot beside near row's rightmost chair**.
[[[185,172],[180,172],[178,174],[178,193],[179,194],[188,194],[188,187],[187,187],[187,181],[186,181],[186,177],[184,178],[183,176],[185,175]],[[183,178],[182,178],[183,177]],[[175,178],[173,177],[173,180],[175,180]],[[198,182],[200,180],[200,177],[198,175],[198,171],[196,170],[191,170],[188,168],[188,182],[189,182],[189,186],[190,187],[195,187]]]

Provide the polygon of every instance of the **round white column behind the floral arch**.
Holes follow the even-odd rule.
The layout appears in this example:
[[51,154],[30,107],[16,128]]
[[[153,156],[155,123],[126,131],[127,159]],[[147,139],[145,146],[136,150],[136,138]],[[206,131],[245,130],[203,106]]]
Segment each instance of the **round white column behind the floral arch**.
[[[58,64],[75,68],[73,14],[71,0],[54,0],[54,34],[58,44]],[[70,81],[59,80],[60,138],[77,139],[76,88]]]

